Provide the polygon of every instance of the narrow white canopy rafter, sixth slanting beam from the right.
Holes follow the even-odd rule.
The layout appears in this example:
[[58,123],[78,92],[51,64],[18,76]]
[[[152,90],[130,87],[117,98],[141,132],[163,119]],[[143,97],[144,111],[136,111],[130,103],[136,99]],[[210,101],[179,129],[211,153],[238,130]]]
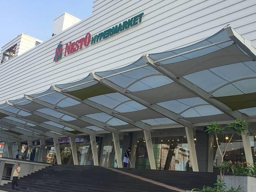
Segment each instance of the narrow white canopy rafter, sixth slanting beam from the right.
[[[12,103],[12,102],[10,102],[10,101],[6,101],[6,103],[7,103],[8,105],[12,106],[12,107],[17,108],[17,109],[24,110],[24,111],[26,111],[26,112],[28,112],[28,113],[30,113],[30,114],[33,114],[33,115],[36,115],[36,116],[38,116],[38,117],[43,117],[43,118],[45,118],[45,119],[48,119],[49,121],[52,121],[52,122],[61,124],[61,125],[63,125],[63,126],[66,126],[66,127],[72,128],[72,129],[75,129],[75,130],[80,131],[80,132],[84,132],[84,133],[89,134],[89,135],[95,135],[95,131],[93,131],[93,130],[91,130],[91,129],[88,129],[88,128],[85,128],[85,127],[80,128],[80,127],[77,127],[77,126],[72,125],[72,124],[68,124],[68,123],[65,123],[65,122],[60,122],[60,121],[58,121],[58,118],[53,117],[53,116],[50,116],[50,115],[47,115],[47,114],[44,114],[44,113],[41,113],[41,112],[38,112],[38,111],[33,111],[33,112],[31,112],[31,111],[29,111],[29,110],[27,110],[27,109],[24,109],[24,108],[22,108],[22,107],[20,107],[20,106],[15,105],[14,103]],[[21,105],[21,106],[22,106],[22,105]],[[53,131],[53,130],[52,130],[52,131]],[[63,131],[62,131],[62,132],[63,132]]]

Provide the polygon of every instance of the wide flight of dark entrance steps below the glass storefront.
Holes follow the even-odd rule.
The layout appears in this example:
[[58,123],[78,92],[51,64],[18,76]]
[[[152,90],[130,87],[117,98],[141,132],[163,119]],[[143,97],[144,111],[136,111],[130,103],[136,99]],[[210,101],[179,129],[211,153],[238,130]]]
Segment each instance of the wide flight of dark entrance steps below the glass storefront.
[[[212,186],[217,174],[169,170],[116,168],[153,181],[181,189]],[[174,192],[174,190],[98,166],[53,165],[18,180],[23,192]],[[12,184],[0,186],[11,191]]]

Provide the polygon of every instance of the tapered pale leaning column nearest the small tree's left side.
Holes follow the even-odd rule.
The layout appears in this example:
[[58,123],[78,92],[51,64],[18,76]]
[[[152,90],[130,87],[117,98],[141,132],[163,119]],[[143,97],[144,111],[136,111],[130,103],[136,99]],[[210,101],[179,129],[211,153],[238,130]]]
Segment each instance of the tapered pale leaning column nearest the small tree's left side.
[[189,154],[190,154],[193,171],[199,171],[197,158],[196,158],[196,146],[194,141],[193,129],[192,127],[185,127],[185,131],[186,131],[186,136],[188,140],[188,148],[189,148]]

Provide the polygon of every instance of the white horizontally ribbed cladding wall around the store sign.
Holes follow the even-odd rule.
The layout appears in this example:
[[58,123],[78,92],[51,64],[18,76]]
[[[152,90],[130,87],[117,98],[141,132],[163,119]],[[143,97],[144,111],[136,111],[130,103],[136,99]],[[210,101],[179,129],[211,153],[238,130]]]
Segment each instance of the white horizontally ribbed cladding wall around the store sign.
[[[92,36],[144,12],[142,22],[53,61],[57,45]],[[193,44],[230,24],[256,46],[255,0],[96,0],[92,16],[0,65],[0,103],[120,68],[143,53]]]

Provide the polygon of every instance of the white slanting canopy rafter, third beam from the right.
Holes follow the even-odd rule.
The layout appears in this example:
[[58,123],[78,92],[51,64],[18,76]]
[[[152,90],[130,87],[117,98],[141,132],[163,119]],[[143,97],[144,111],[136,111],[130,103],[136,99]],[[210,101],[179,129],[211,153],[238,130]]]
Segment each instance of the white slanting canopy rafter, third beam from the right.
[[108,88],[110,88],[110,89],[112,89],[112,90],[114,90],[114,91],[132,99],[133,101],[135,101],[137,103],[140,103],[141,105],[147,107],[148,109],[151,109],[151,110],[163,115],[164,117],[167,117],[167,118],[171,119],[172,121],[175,121],[176,123],[179,123],[179,124],[181,124],[185,127],[186,126],[188,126],[188,127],[192,126],[192,123],[190,123],[190,122],[188,122],[184,119],[178,119],[176,113],[174,113],[170,110],[167,110],[164,107],[161,107],[157,104],[150,104],[147,101],[145,101],[145,100],[143,100],[139,97],[128,94],[129,92],[127,90],[124,91],[124,89],[122,87],[116,85],[115,83],[112,83],[112,82],[108,81],[107,79],[101,79],[101,77],[99,75],[96,75],[95,73],[91,72],[90,75],[92,76],[92,78],[95,81],[97,81],[97,82],[105,85],[106,87],[108,87]]

